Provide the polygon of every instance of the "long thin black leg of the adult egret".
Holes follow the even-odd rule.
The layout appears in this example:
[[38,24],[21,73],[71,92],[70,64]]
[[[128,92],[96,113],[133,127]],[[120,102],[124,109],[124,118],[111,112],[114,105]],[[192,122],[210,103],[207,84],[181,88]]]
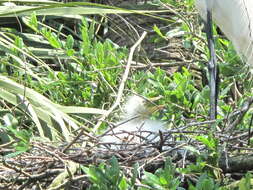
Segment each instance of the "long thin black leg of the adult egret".
[[215,120],[217,116],[217,101],[218,101],[218,78],[217,64],[214,49],[214,38],[212,30],[212,12],[207,9],[206,35],[208,48],[210,52],[210,60],[208,62],[209,71],[209,87],[210,87],[210,119]]

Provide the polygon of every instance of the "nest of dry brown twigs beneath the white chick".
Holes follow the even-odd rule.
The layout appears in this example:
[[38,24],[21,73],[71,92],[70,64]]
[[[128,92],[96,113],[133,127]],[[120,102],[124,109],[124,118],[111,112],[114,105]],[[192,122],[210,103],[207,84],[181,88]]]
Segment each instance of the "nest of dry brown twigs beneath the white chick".
[[[123,144],[104,143],[100,141],[101,138],[95,140],[86,135],[80,136],[74,143],[60,146],[31,142],[30,151],[12,158],[2,157],[0,189],[86,189],[91,182],[80,166],[108,163],[113,156],[117,158],[126,176],[131,175],[131,169],[136,163],[139,165],[140,173],[143,170],[154,172],[164,165],[167,157],[171,157],[177,167],[185,168],[186,165],[196,161],[200,152],[206,152],[208,155],[210,150],[192,136],[196,133],[199,135],[210,133],[209,124],[210,122],[195,123],[194,126],[197,128],[194,131],[193,125],[189,124],[165,133],[159,132],[156,134],[156,141],[146,139],[132,144],[126,141]],[[216,133],[215,137],[220,139],[221,143],[227,144],[226,149],[221,151],[219,159],[219,167],[224,173],[238,172],[238,166],[242,172],[253,168],[253,158],[250,155],[243,157],[227,155],[228,152],[234,152],[236,155],[238,150],[242,150],[239,144],[247,143],[247,134],[238,134],[230,138],[221,132]],[[116,149],[115,146],[119,146],[120,149]],[[7,148],[8,145],[2,146],[2,151],[12,151]],[[189,178],[194,180],[193,176]]]

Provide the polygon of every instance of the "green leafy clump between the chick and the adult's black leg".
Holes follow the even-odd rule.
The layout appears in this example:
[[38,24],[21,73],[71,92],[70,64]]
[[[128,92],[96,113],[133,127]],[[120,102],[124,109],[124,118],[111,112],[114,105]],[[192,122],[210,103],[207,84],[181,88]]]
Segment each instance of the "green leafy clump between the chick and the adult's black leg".
[[207,114],[203,105],[208,104],[208,89],[202,91],[196,88],[193,76],[186,68],[182,72],[175,72],[172,76],[157,68],[155,72],[136,72],[133,81],[129,81],[129,88],[134,89],[147,97],[162,96],[159,105],[166,105],[163,119],[180,125],[186,118],[195,118],[197,115]]

